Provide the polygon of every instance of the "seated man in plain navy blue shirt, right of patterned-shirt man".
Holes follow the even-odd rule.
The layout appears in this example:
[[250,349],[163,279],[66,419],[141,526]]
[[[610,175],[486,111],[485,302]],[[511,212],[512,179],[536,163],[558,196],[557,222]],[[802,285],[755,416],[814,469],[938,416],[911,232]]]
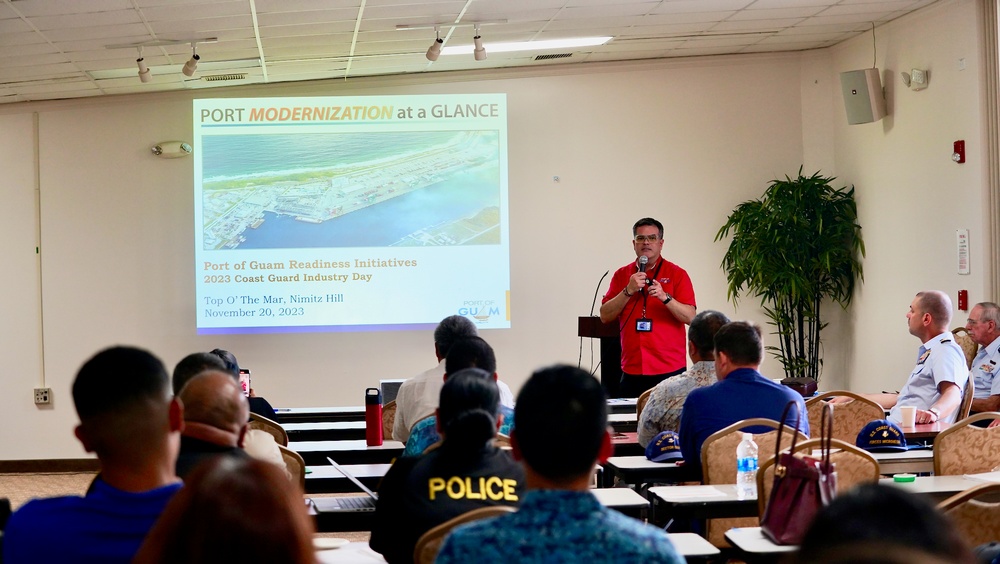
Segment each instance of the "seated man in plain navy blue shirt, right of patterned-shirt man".
[[[757,371],[764,357],[760,327],[746,321],[723,325],[715,334],[715,376],[718,382],[691,390],[681,411],[681,451],[684,464],[701,472],[701,444],[712,433],[753,417],[781,420],[790,401],[798,405],[798,428],[809,436],[809,419],[802,396]],[[788,421],[790,424],[791,421]],[[748,433],[770,428],[748,427]]]

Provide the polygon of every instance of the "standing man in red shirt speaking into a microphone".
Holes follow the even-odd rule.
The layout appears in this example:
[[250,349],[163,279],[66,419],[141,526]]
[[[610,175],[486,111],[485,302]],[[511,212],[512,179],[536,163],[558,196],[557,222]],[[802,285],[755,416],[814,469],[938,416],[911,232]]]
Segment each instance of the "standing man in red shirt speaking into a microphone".
[[622,343],[618,395],[634,398],[684,372],[684,324],[694,318],[697,306],[687,272],[660,256],[663,224],[644,217],[632,226],[632,236],[637,260],[611,277],[601,301],[601,321],[618,320]]

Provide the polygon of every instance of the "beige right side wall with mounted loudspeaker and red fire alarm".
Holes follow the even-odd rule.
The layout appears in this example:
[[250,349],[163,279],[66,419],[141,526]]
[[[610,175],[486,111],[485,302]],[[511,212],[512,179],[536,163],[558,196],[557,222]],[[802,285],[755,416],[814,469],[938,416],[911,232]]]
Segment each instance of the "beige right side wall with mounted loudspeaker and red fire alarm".
[[[851,389],[898,390],[913,369],[920,343],[906,329],[905,313],[921,290],[958,290],[970,303],[986,296],[984,253],[981,55],[975,2],[931,6],[876,30],[877,66],[890,115],[867,125],[833,130],[836,173],[857,186],[858,211],[868,258],[865,283],[851,310]],[[872,62],[868,34],[831,50],[835,72]],[[965,59],[965,70],[959,70]],[[926,90],[908,90],[899,77],[929,69]],[[843,101],[837,97],[838,115]],[[807,129],[808,129],[807,125]],[[952,142],[964,139],[967,162],[951,160]],[[968,229],[971,274],[957,274],[955,231]],[[951,326],[965,324],[956,311]]]

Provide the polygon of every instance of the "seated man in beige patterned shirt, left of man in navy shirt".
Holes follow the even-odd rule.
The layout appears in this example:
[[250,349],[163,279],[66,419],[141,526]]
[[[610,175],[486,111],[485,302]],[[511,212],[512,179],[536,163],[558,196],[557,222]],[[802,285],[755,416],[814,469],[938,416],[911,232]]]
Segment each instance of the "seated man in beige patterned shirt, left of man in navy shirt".
[[691,368],[660,382],[649,394],[639,418],[639,444],[645,447],[663,431],[676,431],[681,424],[684,400],[695,388],[711,386],[715,378],[715,333],[729,323],[725,314],[705,310],[688,326],[688,356]]

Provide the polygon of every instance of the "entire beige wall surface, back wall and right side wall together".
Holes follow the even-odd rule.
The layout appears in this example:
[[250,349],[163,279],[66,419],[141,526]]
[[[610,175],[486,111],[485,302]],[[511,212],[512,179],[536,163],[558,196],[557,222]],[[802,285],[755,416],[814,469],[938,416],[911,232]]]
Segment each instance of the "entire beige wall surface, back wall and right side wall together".
[[[981,237],[981,219],[963,213],[978,202],[978,168],[947,161],[952,138],[978,138],[974,44],[965,55],[970,70],[964,75],[949,79],[938,70],[955,57],[952,43],[971,41],[971,10],[971,0],[955,2],[944,14],[917,14],[880,29],[881,56],[930,65],[931,87],[898,93],[900,113],[891,120],[850,128],[836,73],[870,64],[861,39],[802,54],[200,94],[506,93],[512,328],[484,337],[497,350],[501,378],[515,390],[539,366],[576,364],[576,318],[590,312],[604,271],[630,260],[629,228],[643,215],[666,224],[665,254],[691,274],[701,309],[762,321],[755,300],[742,301],[738,310],[726,302],[719,268],[725,245],[713,242],[717,229],[737,203],[757,197],[768,180],[795,174],[803,163],[807,173],[837,175],[858,187],[869,259],[857,305],[848,313],[828,310],[822,385],[842,386],[849,374],[860,385],[863,367],[865,374],[885,374],[885,384],[878,385],[888,386],[902,382],[916,345],[901,323],[909,286],[956,289],[974,281],[973,299],[981,293],[978,261],[972,277],[948,274],[954,270],[954,229],[967,226],[974,244]],[[921,33],[909,33],[912,28]],[[935,48],[924,47],[926,42]],[[931,61],[917,61],[918,55]],[[15,218],[0,225],[0,257],[16,268],[5,269],[15,273],[5,284],[17,302],[5,304],[12,315],[0,319],[2,334],[13,336],[0,343],[0,458],[80,456],[69,386],[89,355],[115,343],[148,347],[169,367],[194,350],[228,348],[254,370],[258,391],[279,406],[356,405],[363,388],[379,378],[407,377],[434,362],[425,332],[195,335],[192,164],[156,159],[148,147],[190,138],[190,100],[196,94],[0,107],[0,214]],[[34,250],[33,111],[39,114],[43,340],[32,338],[39,319],[34,255],[26,257],[22,249],[27,244]],[[970,142],[972,163],[979,158],[976,144]],[[906,158],[913,152],[919,158]],[[934,161],[938,157],[941,162]],[[929,203],[934,197],[944,202]],[[933,266],[920,267],[913,257]],[[464,275],[475,284],[474,272]],[[606,288],[607,280],[601,293]],[[390,299],[420,296],[401,292]],[[881,354],[890,350],[885,341],[892,342],[892,357]],[[55,391],[53,407],[43,410],[31,403],[31,388],[43,380],[40,343],[44,381]],[[585,368],[591,366],[590,345],[584,343]],[[763,371],[780,376],[772,360]]]

